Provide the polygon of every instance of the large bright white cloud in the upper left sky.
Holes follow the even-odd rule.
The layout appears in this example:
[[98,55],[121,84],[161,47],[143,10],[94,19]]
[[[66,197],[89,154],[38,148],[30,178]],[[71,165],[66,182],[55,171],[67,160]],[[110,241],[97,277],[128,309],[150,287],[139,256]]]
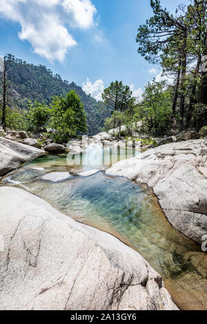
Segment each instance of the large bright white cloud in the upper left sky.
[[0,14],[21,25],[19,38],[50,61],[63,61],[77,45],[66,25],[89,28],[96,12],[90,0],[0,0]]

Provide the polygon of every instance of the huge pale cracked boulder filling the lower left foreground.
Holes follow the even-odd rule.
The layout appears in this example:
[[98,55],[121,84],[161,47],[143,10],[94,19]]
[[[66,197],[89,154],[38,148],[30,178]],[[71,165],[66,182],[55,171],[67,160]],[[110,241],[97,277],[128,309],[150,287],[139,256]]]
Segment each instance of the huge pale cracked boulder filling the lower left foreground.
[[1,187],[0,205],[1,310],[177,310],[161,276],[114,236],[17,188]]

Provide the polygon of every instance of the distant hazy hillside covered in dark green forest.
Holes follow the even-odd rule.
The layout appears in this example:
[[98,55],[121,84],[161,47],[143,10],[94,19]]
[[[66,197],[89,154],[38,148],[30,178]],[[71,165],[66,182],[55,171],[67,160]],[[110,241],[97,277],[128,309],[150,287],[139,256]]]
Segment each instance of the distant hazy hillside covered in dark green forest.
[[26,109],[28,100],[37,100],[39,103],[50,104],[53,96],[66,95],[68,91],[75,90],[81,97],[88,119],[88,134],[94,135],[101,132],[104,121],[110,116],[110,109],[103,103],[83,92],[82,88],[74,82],[62,80],[59,74],[53,75],[52,71],[43,65],[28,64],[26,61],[16,59],[8,54],[8,77],[12,88],[17,92],[15,103]]

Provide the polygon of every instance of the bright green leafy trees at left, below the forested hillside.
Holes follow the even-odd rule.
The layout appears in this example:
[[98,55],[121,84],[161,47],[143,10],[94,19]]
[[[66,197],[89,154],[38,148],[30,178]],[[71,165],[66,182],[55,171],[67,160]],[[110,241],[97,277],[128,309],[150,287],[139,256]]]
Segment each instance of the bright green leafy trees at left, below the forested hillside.
[[[0,112],[1,117],[2,112]],[[55,129],[52,134],[57,143],[67,142],[69,137],[87,131],[86,113],[80,97],[70,90],[66,97],[54,97],[50,108],[48,105],[30,102],[28,110],[19,112],[6,108],[6,125],[12,130],[33,131],[40,127]],[[45,134],[48,137],[48,133]],[[43,144],[42,141],[39,142]]]

